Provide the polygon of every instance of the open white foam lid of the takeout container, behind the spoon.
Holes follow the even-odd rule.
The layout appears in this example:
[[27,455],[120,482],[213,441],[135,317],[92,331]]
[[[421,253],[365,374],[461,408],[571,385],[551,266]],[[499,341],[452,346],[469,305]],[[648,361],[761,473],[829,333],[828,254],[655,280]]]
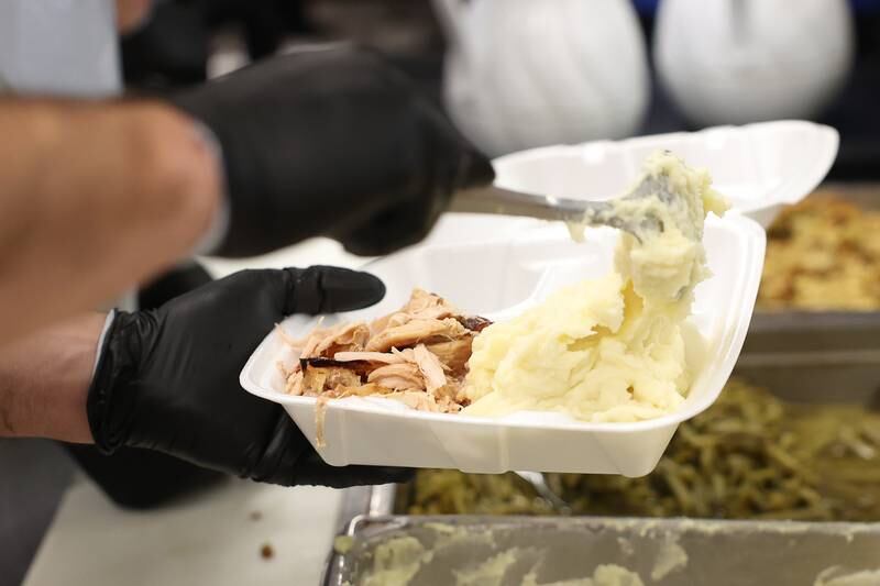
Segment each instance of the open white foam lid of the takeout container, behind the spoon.
[[619,142],[535,148],[494,162],[495,184],[564,198],[607,199],[620,192],[652,152],[664,148],[706,167],[715,187],[767,228],[825,178],[835,158],[836,130],[805,121],[718,126]]

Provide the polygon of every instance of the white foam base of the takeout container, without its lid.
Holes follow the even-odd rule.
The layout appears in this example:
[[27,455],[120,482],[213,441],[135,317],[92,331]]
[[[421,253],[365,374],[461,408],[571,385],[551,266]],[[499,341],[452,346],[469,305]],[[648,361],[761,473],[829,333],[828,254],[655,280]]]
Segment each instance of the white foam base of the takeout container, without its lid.
[[[387,296],[372,308],[337,320],[369,320],[402,307],[414,287],[447,297],[469,313],[504,319],[540,302],[560,287],[612,268],[619,237],[610,229],[588,231],[574,243],[562,224],[494,221],[484,240],[427,243],[378,259],[369,269]],[[372,464],[459,468],[471,473],[510,469],[619,473],[640,476],[657,465],[679,423],[706,409],[733,371],[751,318],[765,253],[765,232],[737,214],[710,217],[704,242],[715,276],[697,286],[689,323],[702,343],[691,346],[694,380],[675,413],[635,423],[586,423],[550,412],[520,412],[493,420],[426,413],[382,398],[330,401],[326,445],[316,449],[332,465]],[[301,338],[316,318],[293,316],[282,328]],[[316,400],[284,394],[278,361],[296,356],[273,331],[241,373],[250,392],[280,403],[317,444]]]

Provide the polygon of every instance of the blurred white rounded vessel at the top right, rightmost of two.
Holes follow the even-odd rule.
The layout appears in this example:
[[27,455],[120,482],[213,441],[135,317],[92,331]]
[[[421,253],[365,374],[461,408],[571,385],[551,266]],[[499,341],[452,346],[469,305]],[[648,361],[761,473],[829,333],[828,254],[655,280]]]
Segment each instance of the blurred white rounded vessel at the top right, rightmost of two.
[[847,0],[664,0],[658,12],[660,81],[701,125],[814,117],[853,55]]

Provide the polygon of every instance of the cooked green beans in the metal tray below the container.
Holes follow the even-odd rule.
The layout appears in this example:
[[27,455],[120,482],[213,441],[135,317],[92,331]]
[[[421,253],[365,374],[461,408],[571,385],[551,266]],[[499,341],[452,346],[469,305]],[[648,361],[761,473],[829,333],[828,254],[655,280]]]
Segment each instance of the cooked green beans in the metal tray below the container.
[[[644,478],[549,474],[575,513],[880,521],[880,414],[732,380]],[[548,515],[513,475],[420,471],[402,512]]]

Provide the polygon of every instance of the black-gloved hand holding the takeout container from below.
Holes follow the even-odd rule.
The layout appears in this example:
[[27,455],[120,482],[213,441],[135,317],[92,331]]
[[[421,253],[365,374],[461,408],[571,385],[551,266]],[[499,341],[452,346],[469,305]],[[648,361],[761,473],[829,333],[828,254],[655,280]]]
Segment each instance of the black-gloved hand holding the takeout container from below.
[[246,270],[157,310],[117,313],[88,395],[95,443],[282,485],[405,480],[406,471],[324,464],[280,406],[239,385],[248,357],[285,316],[363,308],[384,295],[376,277],[342,268]]

